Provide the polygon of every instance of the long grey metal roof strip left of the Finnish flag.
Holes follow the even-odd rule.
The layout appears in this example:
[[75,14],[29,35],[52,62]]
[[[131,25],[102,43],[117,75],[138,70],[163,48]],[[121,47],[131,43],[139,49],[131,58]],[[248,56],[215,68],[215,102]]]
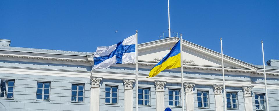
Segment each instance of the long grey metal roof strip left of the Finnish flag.
[[73,55],[73,56],[86,56],[88,54],[93,53],[93,52],[77,52],[77,51],[62,51],[62,50],[34,49],[34,48],[23,48],[23,47],[3,47],[3,46],[0,46],[0,51],[18,51],[18,52]]

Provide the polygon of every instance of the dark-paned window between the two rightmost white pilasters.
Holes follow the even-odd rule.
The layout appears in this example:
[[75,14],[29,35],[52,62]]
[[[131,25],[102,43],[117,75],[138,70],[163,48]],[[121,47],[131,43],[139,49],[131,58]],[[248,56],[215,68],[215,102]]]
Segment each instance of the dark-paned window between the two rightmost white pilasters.
[[237,93],[227,92],[227,108],[237,109]]

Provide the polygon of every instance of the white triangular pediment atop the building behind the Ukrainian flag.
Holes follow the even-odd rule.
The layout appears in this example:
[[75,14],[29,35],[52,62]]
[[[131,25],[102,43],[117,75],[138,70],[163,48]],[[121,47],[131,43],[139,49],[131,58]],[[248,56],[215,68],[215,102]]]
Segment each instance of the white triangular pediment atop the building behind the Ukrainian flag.
[[[150,61],[158,62],[172,48],[179,38],[166,38],[139,44],[138,60],[139,61]],[[207,49],[205,47],[196,45],[192,42],[183,40],[183,60],[186,64],[201,65],[201,66],[222,66],[221,65],[221,54]],[[224,66],[244,69],[254,69],[253,66],[242,62],[240,60],[231,58],[224,55]]]

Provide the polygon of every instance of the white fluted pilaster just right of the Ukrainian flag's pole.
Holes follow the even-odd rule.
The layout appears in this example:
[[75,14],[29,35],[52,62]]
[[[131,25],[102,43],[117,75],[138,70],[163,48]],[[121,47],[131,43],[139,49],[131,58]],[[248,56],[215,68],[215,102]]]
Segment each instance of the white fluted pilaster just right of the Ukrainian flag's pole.
[[184,82],[186,111],[194,111],[194,86],[195,83]]

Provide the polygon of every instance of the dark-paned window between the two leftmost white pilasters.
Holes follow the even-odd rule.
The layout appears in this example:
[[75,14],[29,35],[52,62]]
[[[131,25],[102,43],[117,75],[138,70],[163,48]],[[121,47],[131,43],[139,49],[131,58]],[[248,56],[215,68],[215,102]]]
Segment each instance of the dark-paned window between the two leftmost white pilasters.
[[117,86],[105,86],[105,103],[117,103]]

